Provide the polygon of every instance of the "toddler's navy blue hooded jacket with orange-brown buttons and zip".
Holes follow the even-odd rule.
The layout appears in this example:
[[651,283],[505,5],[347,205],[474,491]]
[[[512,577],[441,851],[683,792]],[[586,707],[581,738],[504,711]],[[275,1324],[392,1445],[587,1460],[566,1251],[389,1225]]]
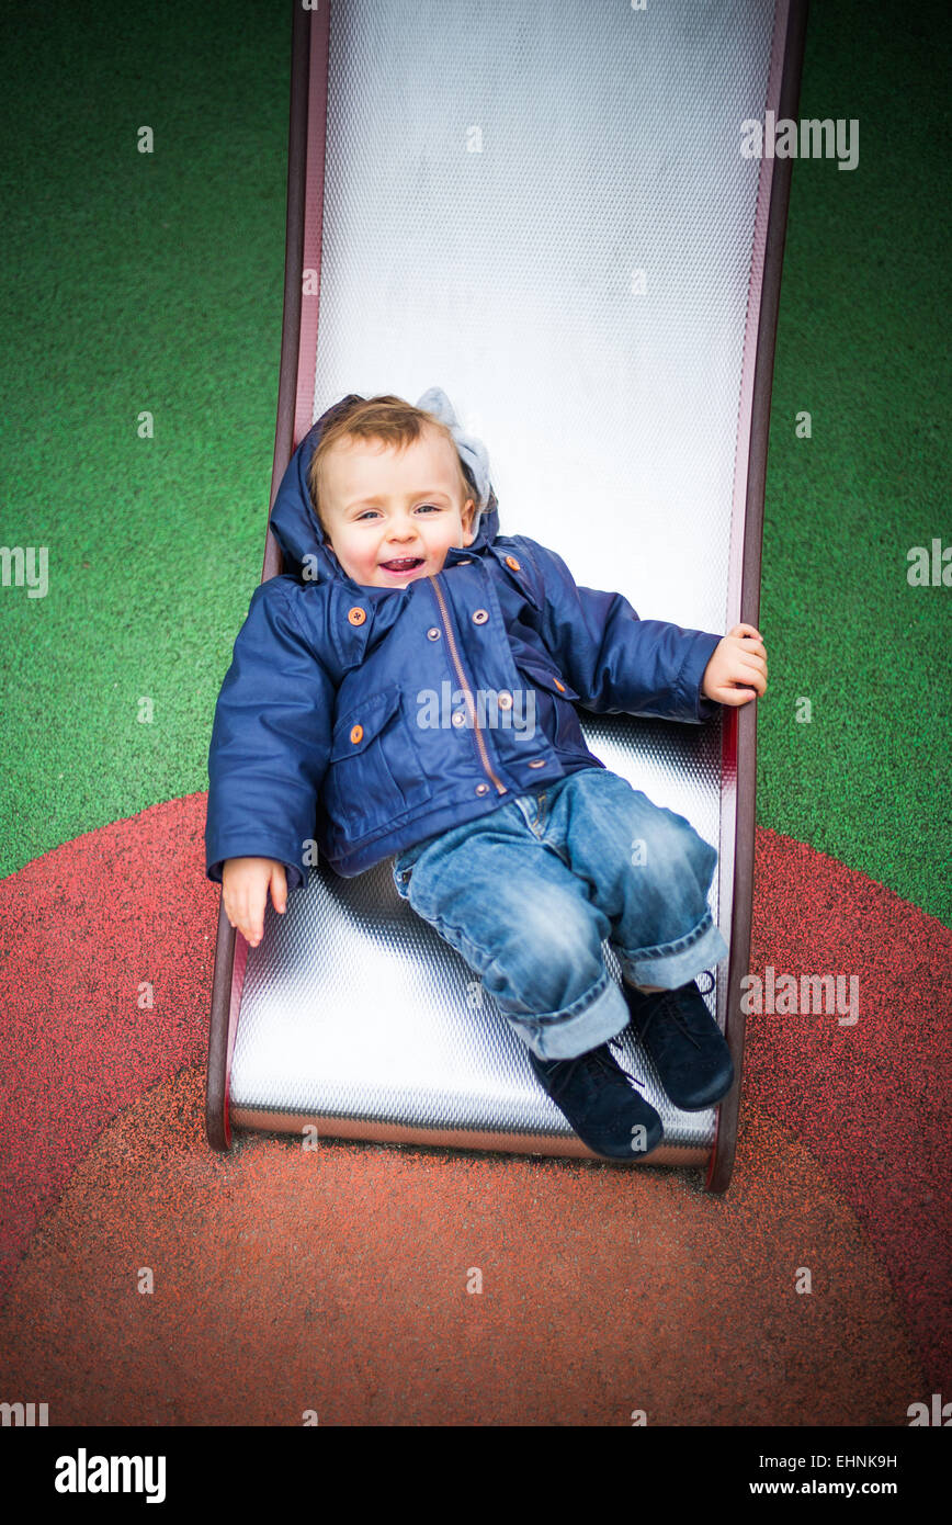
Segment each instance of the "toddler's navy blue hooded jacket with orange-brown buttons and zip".
[[294,450],[272,529],[285,572],[261,583],[235,640],[209,747],[206,872],[278,859],[288,889],[317,860],[349,878],[581,767],[575,703],[708,720],[720,636],[639,619],[577,587],[564,561],[499,535],[490,490],[473,544],[436,576],[363,587],[326,544],[307,471],[328,409]]

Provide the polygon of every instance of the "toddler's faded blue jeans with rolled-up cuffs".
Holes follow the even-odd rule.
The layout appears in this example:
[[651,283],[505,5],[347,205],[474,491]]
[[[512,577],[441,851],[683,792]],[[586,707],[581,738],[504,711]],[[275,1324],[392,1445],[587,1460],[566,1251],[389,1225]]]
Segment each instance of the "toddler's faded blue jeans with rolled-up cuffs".
[[633,985],[665,990],[726,956],[716,863],[683,816],[586,767],[398,852],[394,884],[540,1058],[572,1058],[629,1023],[604,941]]

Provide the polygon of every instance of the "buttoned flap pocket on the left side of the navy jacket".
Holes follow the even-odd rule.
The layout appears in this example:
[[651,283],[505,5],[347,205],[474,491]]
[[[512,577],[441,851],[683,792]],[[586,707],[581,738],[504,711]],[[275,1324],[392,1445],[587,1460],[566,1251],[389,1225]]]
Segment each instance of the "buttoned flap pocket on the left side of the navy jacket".
[[334,723],[323,782],[334,833],[359,842],[432,793],[398,686],[362,700]]

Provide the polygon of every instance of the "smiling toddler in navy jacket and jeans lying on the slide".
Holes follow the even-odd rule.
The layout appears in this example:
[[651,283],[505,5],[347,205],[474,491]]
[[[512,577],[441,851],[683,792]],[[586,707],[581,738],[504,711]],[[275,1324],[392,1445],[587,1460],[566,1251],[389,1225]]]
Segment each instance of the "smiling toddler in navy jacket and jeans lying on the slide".
[[[706,903],[717,852],[589,752],[574,702],[699,723],[766,691],[760,633],[639,621],[499,535],[485,448],[436,387],[328,409],[272,528],[296,570],[253,595],[209,749],[207,875],[229,921],[261,941],[317,814],[337,872],[394,856],[397,892],[481,976],[583,1142],[653,1150],[661,1118],[609,1043],[633,1022],[683,1110],[731,1089],[694,981],[728,952]],[[452,724],[435,723],[449,691]]]

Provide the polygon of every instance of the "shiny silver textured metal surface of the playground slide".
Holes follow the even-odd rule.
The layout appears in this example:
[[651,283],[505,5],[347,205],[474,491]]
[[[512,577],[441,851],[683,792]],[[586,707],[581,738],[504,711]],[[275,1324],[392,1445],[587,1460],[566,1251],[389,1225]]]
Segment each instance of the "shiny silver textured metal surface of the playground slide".
[[[272,499],[290,448],[339,396],[415,401],[441,386],[487,442],[502,534],[551,546],[580,584],[618,589],[645,618],[712,631],[751,618],[777,165],[741,156],[740,124],[778,114],[787,24],[787,0],[333,0],[298,18],[307,107],[291,107],[291,162],[305,189],[288,281],[296,258],[314,276],[293,334],[285,303],[294,427]],[[737,712],[705,726],[580,717],[597,756],[719,848],[711,910],[729,938],[735,871],[752,868],[751,799],[737,862]],[[752,737],[751,724],[748,791]],[[311,869],[284,917],[269,904],[258,949],[238,936],[227,968],[220,958],[226,1132],[229,1118],[314,1122],[590,1157],[473,970],[400,901],[391,863],[351,880]],[[746,971],[749,895],[745,917],[708,997],[722,1026],[728,976],[735,990]],[[738,1023],[731,1010],[737,1057]],[[648,1164],[709,1165],[716,1112],[673,1109],[624,1043],[619,1063],[664,1119]]]

